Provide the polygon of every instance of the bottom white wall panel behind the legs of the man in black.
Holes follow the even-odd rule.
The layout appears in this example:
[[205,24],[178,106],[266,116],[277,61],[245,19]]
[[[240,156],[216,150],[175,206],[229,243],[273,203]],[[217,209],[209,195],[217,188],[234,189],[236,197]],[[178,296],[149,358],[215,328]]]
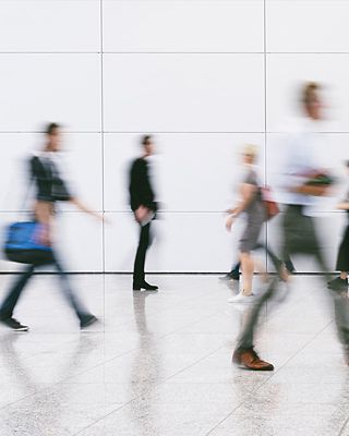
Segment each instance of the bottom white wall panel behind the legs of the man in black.
[[[107,271],[132,271],[139,227],[132,214],[106,214]],[[240,225],[236,232],[239,232]],[[154,222],[147,271],[221,271],[236,258],[222,214],[160,214]]]

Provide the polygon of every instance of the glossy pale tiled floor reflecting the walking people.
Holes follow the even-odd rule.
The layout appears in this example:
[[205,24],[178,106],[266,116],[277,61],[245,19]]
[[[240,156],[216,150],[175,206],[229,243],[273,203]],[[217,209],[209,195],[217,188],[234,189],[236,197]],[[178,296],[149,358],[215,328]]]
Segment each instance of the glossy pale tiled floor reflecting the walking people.
[[[1,296],[11,276],[1,276]],[[231,366],[241,306],[216,276],[73,276],[103,323],[81,334],[55,277],[36,277],[0,329],[1,436],[349,435],[349,368],[316,277],[263,311],[257,348],[276,366]]]

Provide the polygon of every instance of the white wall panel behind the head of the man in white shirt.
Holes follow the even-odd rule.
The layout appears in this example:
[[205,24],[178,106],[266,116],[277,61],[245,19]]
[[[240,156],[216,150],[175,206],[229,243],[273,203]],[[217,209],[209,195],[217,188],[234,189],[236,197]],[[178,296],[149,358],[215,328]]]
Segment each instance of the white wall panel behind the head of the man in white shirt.
[[328,118],[326,131],[349,131],[349,55],[268,55],[267,129],[279,131],[285,119],[300,113],[300,86],[315,81],[324,85]]

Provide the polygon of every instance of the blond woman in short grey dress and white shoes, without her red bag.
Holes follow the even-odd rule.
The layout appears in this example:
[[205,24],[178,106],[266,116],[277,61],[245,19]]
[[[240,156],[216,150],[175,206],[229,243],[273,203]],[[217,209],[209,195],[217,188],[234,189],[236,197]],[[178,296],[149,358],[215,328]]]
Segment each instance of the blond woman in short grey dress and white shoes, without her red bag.
[[240,215],[245,215],[245,229],[239,242],[239,254],[242,270],[242,289],[236,296],[229,299],[233,302],[248,302],[253,298],[252,280],[254,272],[254,259],[252,251],[256,249],[263,222],[266,220],[264,204],[262,201],[260,183],[255,169],[257,149],[253,145],[246,145],[243,149],[244,174],[239,185],[241,203],[229,210],[227,229],[231,230],[234,219]]

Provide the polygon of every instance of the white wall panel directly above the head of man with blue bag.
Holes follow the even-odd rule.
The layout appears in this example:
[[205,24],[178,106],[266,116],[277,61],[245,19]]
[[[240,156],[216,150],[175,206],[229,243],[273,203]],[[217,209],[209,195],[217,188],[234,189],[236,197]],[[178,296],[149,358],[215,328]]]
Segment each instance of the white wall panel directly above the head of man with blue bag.
[[0,55],[0,131],[35,131],[59,121],[100,130],[98,55]]

